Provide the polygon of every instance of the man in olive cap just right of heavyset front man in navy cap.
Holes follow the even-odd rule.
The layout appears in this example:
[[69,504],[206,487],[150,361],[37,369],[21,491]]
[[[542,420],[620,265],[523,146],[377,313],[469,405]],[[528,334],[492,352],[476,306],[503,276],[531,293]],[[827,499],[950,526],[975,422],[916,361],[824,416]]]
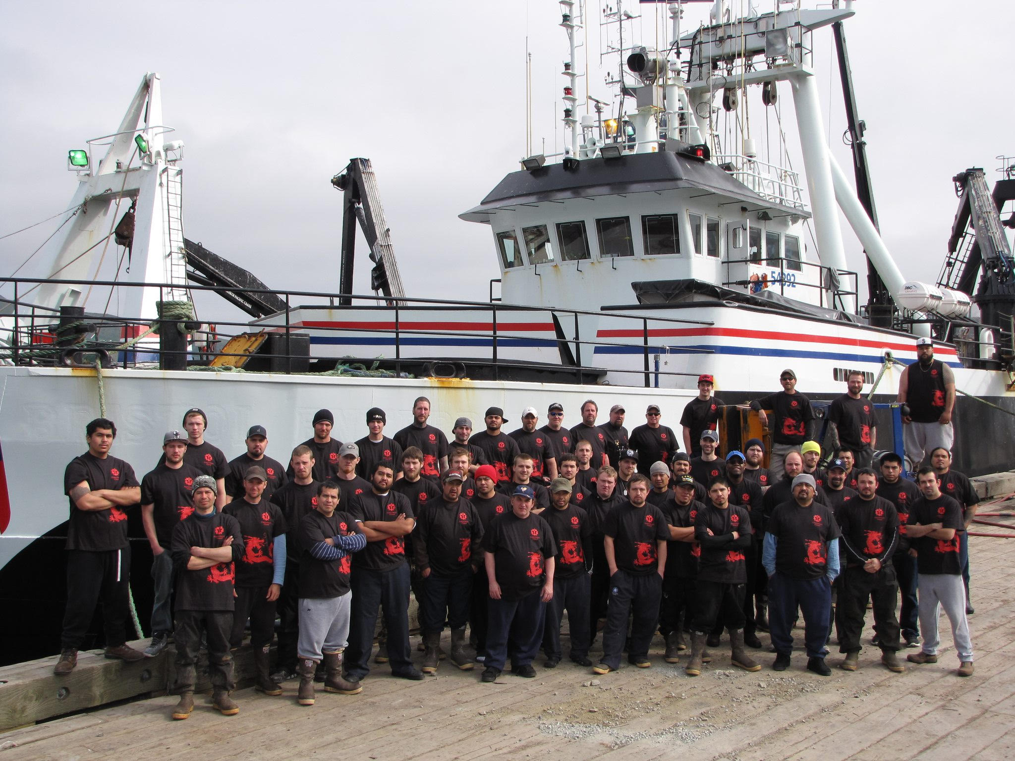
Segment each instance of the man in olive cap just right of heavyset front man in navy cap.
[[543,651],[546,668],[553,669],[563,654],[560,647],[560,621],[567,611],[570,636],[568,656],[579,666],[592,666],[589,660],[589,572],[592,570],[592,523],[589,513],[570,501],[573,486],[566,478],[550,483],[550,508],[542,515],[557,543],[556,569],[553,573],[553,597],[546,605]]

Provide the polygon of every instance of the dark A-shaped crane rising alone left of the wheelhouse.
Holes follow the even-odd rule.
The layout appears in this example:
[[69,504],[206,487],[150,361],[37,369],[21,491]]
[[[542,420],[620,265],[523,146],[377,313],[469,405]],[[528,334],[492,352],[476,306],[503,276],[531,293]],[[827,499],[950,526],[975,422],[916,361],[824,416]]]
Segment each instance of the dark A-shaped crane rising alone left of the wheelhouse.
[[[349,165],[331,179],[331,184],[343,193],[342,202],[342,272],[339,282],[339,303],[349,306],[352,299],[352,271],[356,252],[356,223],[370,247],[370,287],[388,299],[405,295],[402,277],[395,262],[391,230],[385,221],[384,207],[378,190],[377,177],[368,158],[353,158]],[[390,300],[394,303],[394,300]]]

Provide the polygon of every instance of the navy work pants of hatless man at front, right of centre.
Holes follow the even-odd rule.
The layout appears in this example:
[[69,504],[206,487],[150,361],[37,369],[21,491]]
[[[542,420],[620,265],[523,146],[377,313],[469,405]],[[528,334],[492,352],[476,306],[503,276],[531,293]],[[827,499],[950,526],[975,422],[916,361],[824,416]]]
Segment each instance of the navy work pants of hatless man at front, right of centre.
[[656,572],[631,573],[623,569],[610,576],[610,603],[603,629],[603,663],[611,669],[620,668],[620,654],[627,634],[627,619],[633,611],[630,647],[631,663],[649,659],[649,644],[659,622],[659,603],[663,597],[663,579]]

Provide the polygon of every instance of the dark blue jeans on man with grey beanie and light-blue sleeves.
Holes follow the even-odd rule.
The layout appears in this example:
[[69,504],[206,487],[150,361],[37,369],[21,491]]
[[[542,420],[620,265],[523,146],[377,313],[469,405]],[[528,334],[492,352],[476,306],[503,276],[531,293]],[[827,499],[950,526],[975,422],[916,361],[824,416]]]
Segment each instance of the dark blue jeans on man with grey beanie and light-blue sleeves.
[[797,608],[804,614],[804,644],[808,658],[828,654],[831,617],[831,582],[820,578],[794,578],[775,571],[768,579],[768,629],[775,652],[789,655],[793,650],[793,621]]

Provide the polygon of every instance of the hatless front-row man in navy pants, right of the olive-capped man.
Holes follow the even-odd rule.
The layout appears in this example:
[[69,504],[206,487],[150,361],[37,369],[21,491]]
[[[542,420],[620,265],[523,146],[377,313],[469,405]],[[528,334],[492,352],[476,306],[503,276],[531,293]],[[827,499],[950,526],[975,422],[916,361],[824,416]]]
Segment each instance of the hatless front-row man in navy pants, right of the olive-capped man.
[[593,668],[596,674],[620,668],[629,616],[633,620],[627,661],[639,669],[652,666],[649,644],[659,623],[670,530],[662,510],[648,501],[650,488],[649,479],[636,474],[627,499],[614,506],[600,526],[610,570],[610,602],[603,629],[603,658]]

